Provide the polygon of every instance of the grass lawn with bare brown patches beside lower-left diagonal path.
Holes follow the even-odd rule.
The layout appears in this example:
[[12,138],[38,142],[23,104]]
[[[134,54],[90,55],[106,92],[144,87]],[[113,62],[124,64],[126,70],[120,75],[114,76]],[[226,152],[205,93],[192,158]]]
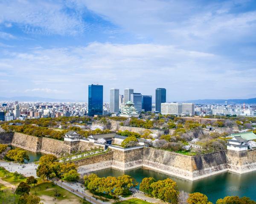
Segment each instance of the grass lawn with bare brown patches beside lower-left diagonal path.
[[[56,191],[58,194],[60,194],[59,197],[55,196]],[[56,203],[58,203],[58,201],[67,201],[69,203],[80,203],[79,201],[82,200],[82,198],[74,195],[73,193],[70,193],[64,188],[61,188],[55,184],[52,184],[52,182],[50,181],[38,183],[35,187],[32,185],[30,193],[38,195],[41,199],[45,198],[45,196],[49,197],[50,200],[55,197],[57,198],[55,201]],[[44,200],[42,199],[42,201]],[[84,203],[89,204],[89,202],[84,202]]]

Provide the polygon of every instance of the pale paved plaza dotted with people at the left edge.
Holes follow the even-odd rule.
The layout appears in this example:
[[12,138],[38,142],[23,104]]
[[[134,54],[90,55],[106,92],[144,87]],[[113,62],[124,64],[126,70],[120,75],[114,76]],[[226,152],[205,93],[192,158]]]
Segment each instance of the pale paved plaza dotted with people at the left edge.
[[0,160],[0,166],[5,167],[6,170],[9,172],[14,173],[17,171],[18,173],[22,174],[23,176],[34,176],[35,178],[38,178],[36,176],[36,169],[38,167],[37,164],[29,163],[29,164],[18,164],[8,161]]

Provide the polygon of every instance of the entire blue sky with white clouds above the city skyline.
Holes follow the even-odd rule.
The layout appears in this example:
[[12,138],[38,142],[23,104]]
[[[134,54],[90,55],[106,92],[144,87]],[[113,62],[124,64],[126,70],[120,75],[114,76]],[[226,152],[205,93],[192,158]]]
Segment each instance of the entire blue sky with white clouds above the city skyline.
[[0,0],[0,96],[256,97],[255,0]]

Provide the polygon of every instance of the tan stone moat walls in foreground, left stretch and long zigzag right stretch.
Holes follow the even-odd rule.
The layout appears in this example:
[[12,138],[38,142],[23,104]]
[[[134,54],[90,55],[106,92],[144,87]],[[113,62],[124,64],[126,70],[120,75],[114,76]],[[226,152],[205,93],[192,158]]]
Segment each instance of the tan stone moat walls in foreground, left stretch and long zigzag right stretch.
[[[90,150],[100,144],[87,140],[67,142],[22,133],[0,134],[2,143],[12,144],[35,152],[61,156],[72,151]],[[245,173],[256,170],[256,150],[218,151],[199,156],[186,156],[151,147],[121,148],[110,146],[110,152],[76,161],[80,173],[113,167],[129,170],[148,167],[170,175],[196,180],[224,171]]]

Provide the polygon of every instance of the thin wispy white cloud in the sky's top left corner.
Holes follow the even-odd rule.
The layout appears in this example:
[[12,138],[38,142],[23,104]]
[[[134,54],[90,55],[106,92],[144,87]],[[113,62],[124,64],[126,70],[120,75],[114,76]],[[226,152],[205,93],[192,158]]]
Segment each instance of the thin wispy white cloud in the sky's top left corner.
[[2,1],[0,23],[7,27],[17,23],[29,34],[75,35],[82,32],[85,25],[81,15],[72,9],[61,1]]

